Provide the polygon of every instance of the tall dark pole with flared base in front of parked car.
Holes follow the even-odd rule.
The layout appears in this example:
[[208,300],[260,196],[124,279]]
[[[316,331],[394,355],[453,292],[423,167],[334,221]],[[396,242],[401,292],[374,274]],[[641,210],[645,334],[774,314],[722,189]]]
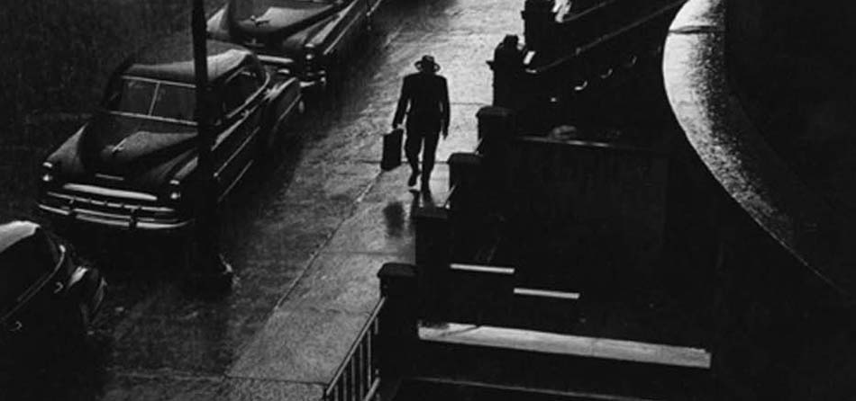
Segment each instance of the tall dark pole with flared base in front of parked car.
[[220,224],[217,218],[217,183],[214,180],[211,130],[211,102],[208,88],[208,55],[205,35],[205,9],[203,0],[191,0],[191,34],[193,35],[193,62],[196,73],[196,179],[201,191],[196,201],[195,237],[193,239],[190,272],[187,284],[193,290],[207,294],[223,293],[232,289],[232,267],[220,254]]

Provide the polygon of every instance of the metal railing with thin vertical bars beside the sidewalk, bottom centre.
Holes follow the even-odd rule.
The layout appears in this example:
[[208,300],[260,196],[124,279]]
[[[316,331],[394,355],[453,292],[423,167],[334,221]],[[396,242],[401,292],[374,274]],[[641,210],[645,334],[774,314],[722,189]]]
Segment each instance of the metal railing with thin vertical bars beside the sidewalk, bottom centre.
[[378,394],[378,316],[385,303],[386,298],[378,300],[369,321],[363,325],[330,384],[324,389],[324,401],[369,401]]

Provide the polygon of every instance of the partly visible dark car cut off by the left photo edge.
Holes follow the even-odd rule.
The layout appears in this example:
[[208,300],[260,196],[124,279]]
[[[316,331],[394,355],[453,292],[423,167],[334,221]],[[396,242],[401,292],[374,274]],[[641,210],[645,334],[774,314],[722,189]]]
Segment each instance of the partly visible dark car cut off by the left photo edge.
[[104,293],[101,274],[38,224],[0,225],[0,345],[84,335]]

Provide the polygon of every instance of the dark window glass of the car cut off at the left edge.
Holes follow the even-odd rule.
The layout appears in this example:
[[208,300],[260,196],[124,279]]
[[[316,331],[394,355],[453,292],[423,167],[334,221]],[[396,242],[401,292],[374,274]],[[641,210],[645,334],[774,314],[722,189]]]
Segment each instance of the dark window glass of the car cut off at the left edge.
[[23,238],[0,254],[0,311],[11,307],[14,299],[53,272],[56,265],[52,246],[41,231]]

